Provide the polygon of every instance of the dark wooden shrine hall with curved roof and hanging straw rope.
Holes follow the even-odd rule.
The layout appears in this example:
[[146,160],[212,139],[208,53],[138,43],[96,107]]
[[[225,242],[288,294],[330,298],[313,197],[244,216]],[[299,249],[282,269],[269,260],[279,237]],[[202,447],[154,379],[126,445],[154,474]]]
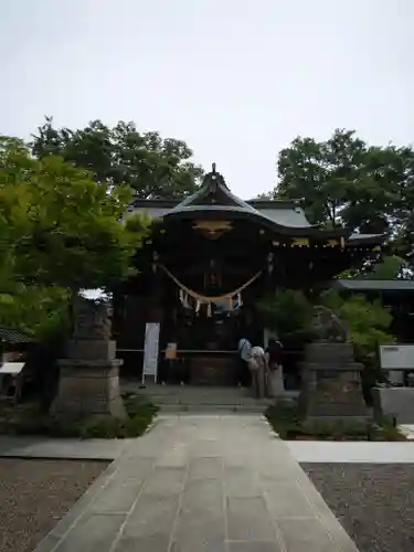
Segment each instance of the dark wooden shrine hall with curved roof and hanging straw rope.
[[[137,199],[128,211],[156,223],[137,251],[139,273],[116,294],[114,337],[124,370],[139,375],[146,325],[159,323],[158,380],[166,382],[236,385],[240,337],[264,343],[261,297],[277,288],[311,295],[383,242],[315,226],[298,201],[243,201],[214,164],[193,195]],[[169,343],[174,360],[166,359]]]

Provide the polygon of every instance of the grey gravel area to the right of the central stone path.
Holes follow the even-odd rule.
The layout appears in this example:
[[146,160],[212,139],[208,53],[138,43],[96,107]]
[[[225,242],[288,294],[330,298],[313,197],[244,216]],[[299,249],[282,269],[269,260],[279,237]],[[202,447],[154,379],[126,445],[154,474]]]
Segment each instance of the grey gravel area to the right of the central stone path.
[[360,552],[414,551],[413,464],[301,464]]

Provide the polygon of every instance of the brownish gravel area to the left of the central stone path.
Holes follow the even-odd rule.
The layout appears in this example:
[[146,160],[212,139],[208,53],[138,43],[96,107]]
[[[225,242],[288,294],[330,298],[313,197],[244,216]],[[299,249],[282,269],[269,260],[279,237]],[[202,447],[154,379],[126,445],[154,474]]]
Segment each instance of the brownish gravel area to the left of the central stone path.
[[0,458],[0,552],[31,552],[106,466]]

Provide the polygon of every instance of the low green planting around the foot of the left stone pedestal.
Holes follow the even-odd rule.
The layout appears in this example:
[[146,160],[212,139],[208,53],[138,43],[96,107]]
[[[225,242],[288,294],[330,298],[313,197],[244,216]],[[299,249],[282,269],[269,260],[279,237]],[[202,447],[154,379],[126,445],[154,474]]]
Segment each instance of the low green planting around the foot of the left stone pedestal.
[[43,435],[73,438],[131,438],[142,435],[157,415],[158,407],[142,399],[124,400],[126,420],[112,416],[86,416],[65,422],[41,414],[35,403],[3,406],[0,410],[0,434]]

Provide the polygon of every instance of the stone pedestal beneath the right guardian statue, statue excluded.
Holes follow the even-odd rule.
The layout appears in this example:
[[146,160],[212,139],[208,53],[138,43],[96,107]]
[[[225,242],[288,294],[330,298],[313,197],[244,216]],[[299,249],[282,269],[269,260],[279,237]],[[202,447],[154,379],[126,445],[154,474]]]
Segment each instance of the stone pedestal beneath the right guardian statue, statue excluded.
[[368,421],[361,389],[363,365],[354,361],[351,343],[310,343],[300,368],[304,422]]

